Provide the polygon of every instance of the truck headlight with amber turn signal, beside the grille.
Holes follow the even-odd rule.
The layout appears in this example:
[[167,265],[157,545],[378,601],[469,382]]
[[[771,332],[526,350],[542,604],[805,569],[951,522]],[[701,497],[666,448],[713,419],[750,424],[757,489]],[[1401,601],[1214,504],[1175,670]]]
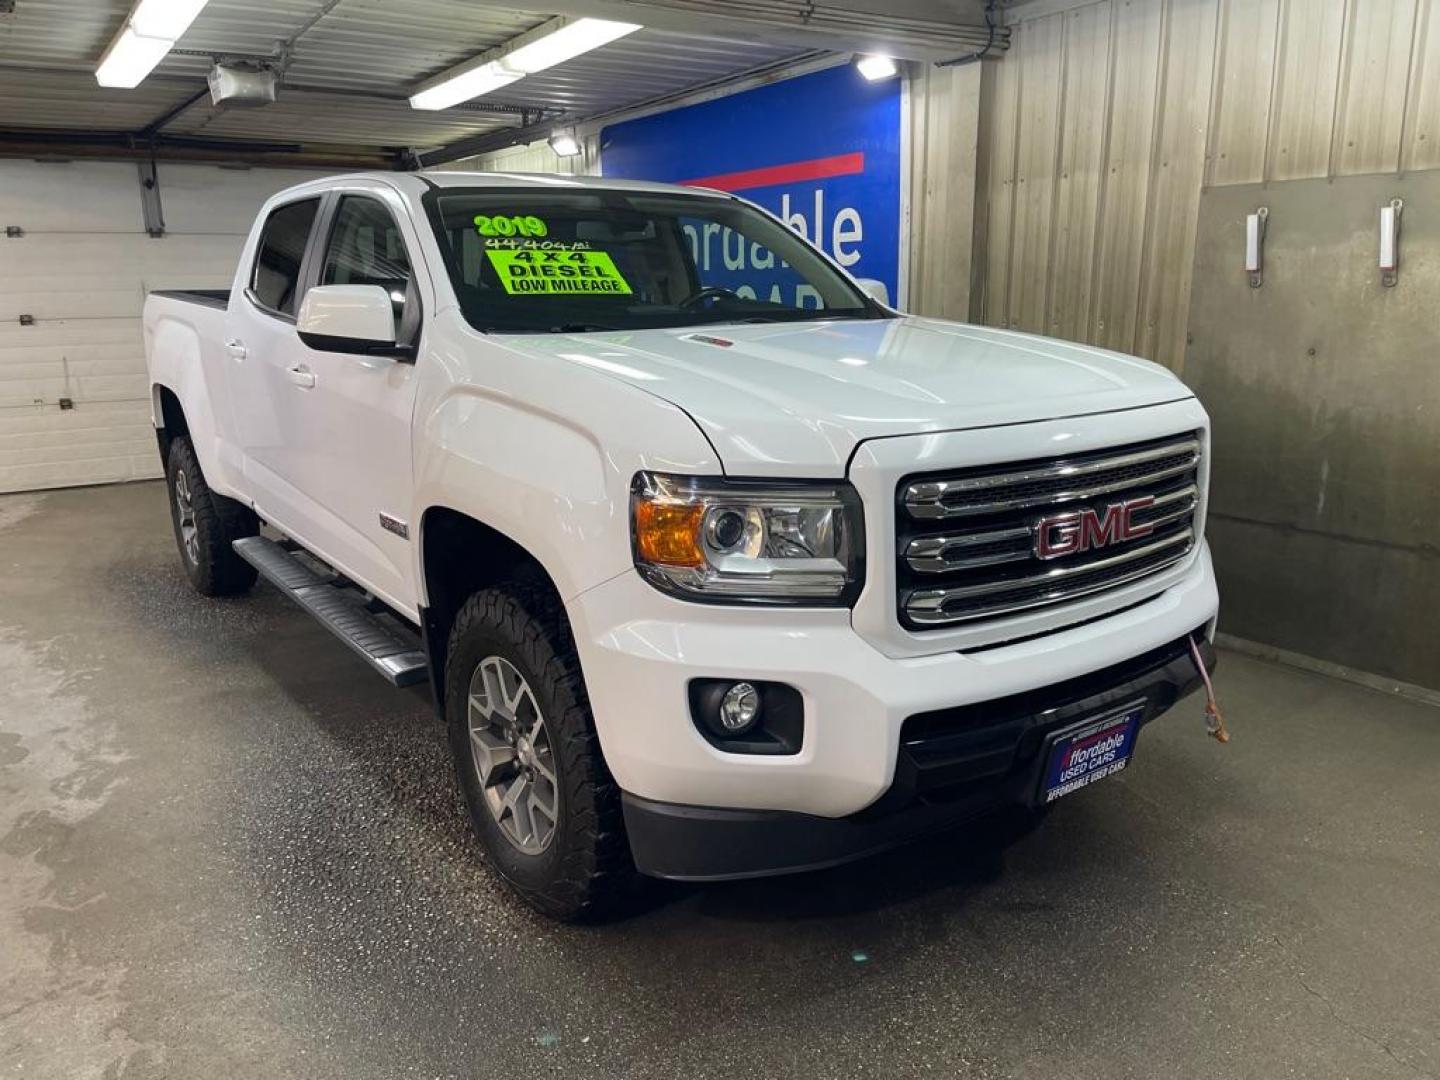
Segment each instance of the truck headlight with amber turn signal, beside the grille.
[[693,600],[848,605],[864,579],[860,498],[848,484],[639,472],[631,537],[641,575]]

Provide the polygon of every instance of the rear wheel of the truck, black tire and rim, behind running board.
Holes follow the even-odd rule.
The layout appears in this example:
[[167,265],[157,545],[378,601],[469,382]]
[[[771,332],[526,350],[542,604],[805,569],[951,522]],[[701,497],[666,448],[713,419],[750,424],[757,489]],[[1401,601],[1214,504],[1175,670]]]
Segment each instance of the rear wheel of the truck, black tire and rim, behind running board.
[[235,596],[255,585],[255,567],[230,544],[261,531],[255,511],[233,498],[210,491],[184,435],[176,436],[166,456],[170,523],[186,577],[202,596]]

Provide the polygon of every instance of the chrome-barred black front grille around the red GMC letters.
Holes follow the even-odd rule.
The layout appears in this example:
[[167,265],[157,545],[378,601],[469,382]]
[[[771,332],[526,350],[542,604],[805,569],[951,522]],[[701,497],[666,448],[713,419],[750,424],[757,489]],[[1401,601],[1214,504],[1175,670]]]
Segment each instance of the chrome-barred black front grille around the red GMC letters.
[[[1119,588],[1195,546],[1198,432],[1077,454],[909,477],[897,495],[900,621],[933,629]],[[1037,523],[1136,498],[1130,539],[1041,559]]]

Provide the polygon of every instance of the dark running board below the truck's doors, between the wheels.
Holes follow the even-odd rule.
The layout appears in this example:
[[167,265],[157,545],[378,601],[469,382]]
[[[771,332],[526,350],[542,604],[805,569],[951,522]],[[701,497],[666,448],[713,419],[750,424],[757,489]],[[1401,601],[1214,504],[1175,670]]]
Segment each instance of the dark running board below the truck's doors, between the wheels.
[[321,577],[264,536],[248,536],[232,547],[261,572],[261,577],[310,612],[393,685],[408,687],[428,678],[419,639],[382,622],[360,593]]

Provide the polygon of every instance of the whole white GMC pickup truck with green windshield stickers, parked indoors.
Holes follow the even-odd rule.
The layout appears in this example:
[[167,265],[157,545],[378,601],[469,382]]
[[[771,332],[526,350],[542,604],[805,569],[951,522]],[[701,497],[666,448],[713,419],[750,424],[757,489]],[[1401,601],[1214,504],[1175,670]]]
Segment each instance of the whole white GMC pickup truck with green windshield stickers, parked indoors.
[[1043,808],[1214,664],[1208,420],[883,292],[723,193],[292,187],[229,292],[145,304],[186,573],[428,680],[559,917]]

